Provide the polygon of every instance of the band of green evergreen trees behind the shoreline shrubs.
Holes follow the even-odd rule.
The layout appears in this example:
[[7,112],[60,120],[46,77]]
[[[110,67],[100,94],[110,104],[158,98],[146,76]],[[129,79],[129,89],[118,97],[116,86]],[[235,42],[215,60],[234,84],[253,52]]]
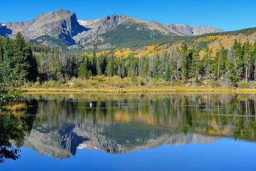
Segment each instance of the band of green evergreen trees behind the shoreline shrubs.
[[156,78],[166,82],[194,79],[199,83],[198,78],[206,81],[226,79],[237,86],[240,80],[249,82],[256,79],[256,41],[254,44],[249,41],[242,44],[235,39],[230,50],[220,44],[214,56],[209,48],[202,56],[201,48],[183,43],[181,48],[162,50],[153,56],[140,58],[133,54],[117,58],[113,50],[98,55],[94,50],[88,56],[62,48],[31,45],[19,33],[14,40],[0,39],[0,45],[3,75],[15,71],[20,82],[35,81],[36,76],[41,81],[66,82],[72,77],[84,79],[96,75],[117,75],[121,78]]

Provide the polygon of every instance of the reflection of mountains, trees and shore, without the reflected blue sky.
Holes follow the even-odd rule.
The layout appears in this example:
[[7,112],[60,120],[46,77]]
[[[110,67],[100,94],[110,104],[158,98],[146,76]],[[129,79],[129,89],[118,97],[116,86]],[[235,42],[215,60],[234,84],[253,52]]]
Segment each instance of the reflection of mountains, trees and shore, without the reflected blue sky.
[[26,93],[25,99],[27,112],[12,116],[29,118],[22,146],[59,159],[75,156],[78,149],[118,154],[221,137],[255,141],[253,94]]

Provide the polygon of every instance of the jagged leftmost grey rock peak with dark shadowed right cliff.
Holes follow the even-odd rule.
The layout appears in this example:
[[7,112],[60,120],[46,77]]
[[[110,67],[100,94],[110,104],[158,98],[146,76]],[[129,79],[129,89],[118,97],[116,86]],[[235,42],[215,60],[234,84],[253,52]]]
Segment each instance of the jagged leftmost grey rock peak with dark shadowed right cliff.
[[74,44],[75,41],[72,36],[87,30],[87,28],[79,25],[75,13],[62,9],[41,14],[31,21],[9,22],[2,25],[11,30],[9,35],[11,38],[14,38],[14,35],[19,31],[27,39],[48,35],[66,45]]

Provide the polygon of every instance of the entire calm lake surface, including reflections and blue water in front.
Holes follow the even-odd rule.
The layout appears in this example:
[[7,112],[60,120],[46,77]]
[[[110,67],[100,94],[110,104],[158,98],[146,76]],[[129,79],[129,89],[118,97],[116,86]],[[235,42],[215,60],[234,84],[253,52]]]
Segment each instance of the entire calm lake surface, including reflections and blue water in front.
[[255,94],[26,93],[23,104],[1,116],[21,131],[0,130],[19,149],[0,170],[256,170]]

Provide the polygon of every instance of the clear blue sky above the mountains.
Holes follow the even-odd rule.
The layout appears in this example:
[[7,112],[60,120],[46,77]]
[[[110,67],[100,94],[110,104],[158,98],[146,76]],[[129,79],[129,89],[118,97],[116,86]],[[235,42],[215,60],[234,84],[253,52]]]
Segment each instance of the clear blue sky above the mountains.
[[75,12],[78,19],[95,19],[124,14],[164,24],[208,25],[224,31],[256,27],[254,0],[159,0],[159,1],[59,1],[1,0],[0,22],[28,21],[56,9]]

